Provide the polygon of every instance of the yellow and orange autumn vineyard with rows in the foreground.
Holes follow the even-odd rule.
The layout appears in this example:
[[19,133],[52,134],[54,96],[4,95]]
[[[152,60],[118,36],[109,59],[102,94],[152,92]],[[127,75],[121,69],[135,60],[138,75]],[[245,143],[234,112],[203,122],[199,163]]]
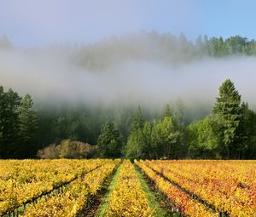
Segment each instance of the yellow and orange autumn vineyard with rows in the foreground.
[[256,161],[1,160],[0,216],[256,216]]

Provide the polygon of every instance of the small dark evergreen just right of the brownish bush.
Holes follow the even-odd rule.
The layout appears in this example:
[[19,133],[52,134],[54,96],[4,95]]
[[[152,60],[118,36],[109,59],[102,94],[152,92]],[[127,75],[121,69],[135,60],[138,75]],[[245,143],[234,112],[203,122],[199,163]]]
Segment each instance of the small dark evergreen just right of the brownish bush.
[[114,128],[113,123],[105,123],[98,137],[97,145],[102,157],[119,157],[121,142],[119,131]]

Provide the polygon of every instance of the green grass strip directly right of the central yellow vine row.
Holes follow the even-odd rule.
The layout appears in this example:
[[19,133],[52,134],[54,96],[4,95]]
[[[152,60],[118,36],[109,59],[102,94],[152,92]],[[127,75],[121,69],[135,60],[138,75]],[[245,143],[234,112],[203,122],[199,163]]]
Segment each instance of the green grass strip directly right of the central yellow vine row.
[[137,166],[135,166],[135,170],[137,177],[140,180],[142,189],[146,193],[148,205],[154,210],[154,217],[180,216],[180,214],[172,213],[167,208],[161,208],[160,203],[164,203],[163,200],[165,200],[165,198],[163,198],[159,192],[151,191],[149,189],[144,174],[140,171],[139,168],[137,168]]

